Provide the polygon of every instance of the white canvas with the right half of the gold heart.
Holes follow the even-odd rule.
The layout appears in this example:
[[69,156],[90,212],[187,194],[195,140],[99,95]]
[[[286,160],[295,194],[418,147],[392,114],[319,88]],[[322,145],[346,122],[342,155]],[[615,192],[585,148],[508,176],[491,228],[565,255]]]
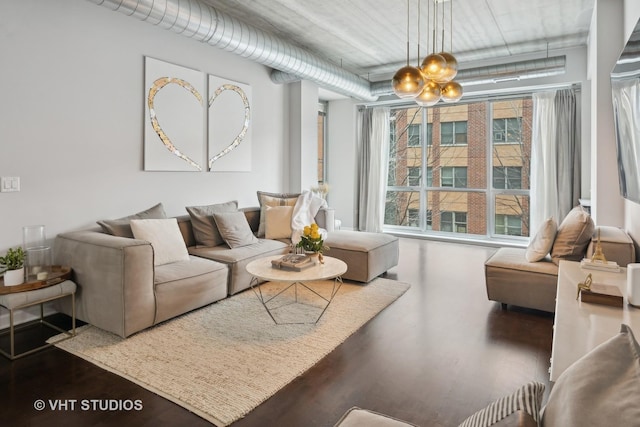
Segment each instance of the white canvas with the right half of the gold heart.
[[251,86],[209,75],[208,166],[251,171]]

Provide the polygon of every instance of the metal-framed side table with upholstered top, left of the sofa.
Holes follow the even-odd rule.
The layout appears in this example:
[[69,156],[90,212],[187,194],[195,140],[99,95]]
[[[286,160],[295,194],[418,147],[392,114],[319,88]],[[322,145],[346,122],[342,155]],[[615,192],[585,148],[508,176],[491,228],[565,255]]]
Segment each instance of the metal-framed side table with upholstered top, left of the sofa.
[[[18,285],[16,287],[19,287],[21,285]],[[3,291],[7,291],[7,289],[2,289]],[[76,284],[74,282],[72,282],[71,280],[64,280],[62,282],[58,282],[52,285],[45,285],[44,287],[40,287],[39,289],[35,289],[35,290],[26,290],[26,291],[17,291],[17,292],[10,292],[10,293],[2,293],[0,294],[0,306],[6,308],[7,310],[9,310],[9,329],[5,330],[3,332],[0,333],[0,335],[6,335],[9,334],[9,342],[10,342],[10,349],[9,352],[6,352],[5,350],[0,348],[0,353],[2,353],[3,356],[14,360],[17,359],[19,357],[22,356],[26,356],[28,354],[34,353],[38,350],[41,350],[43,348],[49,347],[51,345],[57,344],[60,341],[64,341],[68,338],[71,338],[73,336],[76,335],[76,307],[75,307],[75,293],[76,293]],[[59,327],[57,327],[56,325],[53,325],[49,322],[47,322],[46,320],[44,320],[44,303],[49,302],[49,301],[54,301],[60,298],[65,298],[65,297],[71,297],[71,307],[72,307],[72,311],[71,311],[71,322],[72,322],[72,330],[71,331],[65,331],[64,329],[61,329]],[[24,309],[27,307],[31,307],[34,305],[40,305],[40,319],[36,319],[34,321],[31,322],[27,322],[27,323],[23,323],[21,325],[15,326],[14,325],[14,311],[15,310],[20,310],[20,309]],[[48,342],[44,345],[41,345],[37,348],[16,354],[15,352],[15,331],[25,328],[27,326],[32,325],[33,323],[39,322],[49,328],[52,328],[58,332],[62,332],[66,335],[66,337],[63,337],[57,341],[54,342]]]

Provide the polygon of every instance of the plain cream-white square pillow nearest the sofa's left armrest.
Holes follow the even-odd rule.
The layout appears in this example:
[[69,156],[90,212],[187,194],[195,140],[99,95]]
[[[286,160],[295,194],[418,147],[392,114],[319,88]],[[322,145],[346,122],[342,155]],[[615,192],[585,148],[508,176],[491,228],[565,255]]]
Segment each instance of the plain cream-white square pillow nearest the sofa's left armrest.
[[187,246],[175,218],[132,219],[131,230],[136,239],[151,243],[153,265],[189,260]]

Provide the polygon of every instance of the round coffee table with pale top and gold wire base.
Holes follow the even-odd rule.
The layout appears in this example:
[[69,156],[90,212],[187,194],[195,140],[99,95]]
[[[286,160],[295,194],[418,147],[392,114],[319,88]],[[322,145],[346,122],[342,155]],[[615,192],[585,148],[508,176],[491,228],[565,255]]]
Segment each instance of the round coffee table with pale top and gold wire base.
[[[325,256],[324,264],[318,263],[301,271],[291,271],[272,266],[271,261],[281,257],[282,255],[259,258],[247,264],[247,272],[252,276],[251,289],[275,324],[318,323],[342,286],[342,275],[347,271],[347,264],[337,258]],[[333,286],[330,290],[326,289],[326,284],[319,283],[331,279],[333,279]],[[283,286],[266,292],[261,285],[263,282],[283,284]],[[324,295],[318,286],[325,288]],[[309,309],[313,307],[320,313],[313,321],[277,318],[279,311],[291,306],[296,306],[294,308],[298,311],[303,306]]]

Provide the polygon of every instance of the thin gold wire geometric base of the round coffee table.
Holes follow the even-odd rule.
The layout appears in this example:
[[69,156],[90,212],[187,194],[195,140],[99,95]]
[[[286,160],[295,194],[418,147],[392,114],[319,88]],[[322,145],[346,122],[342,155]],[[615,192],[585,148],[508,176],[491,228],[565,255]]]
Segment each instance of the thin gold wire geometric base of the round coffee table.
[[[273,282],[269,282],[269,283],[273,284]],[[292,282],[292,283],[284,283],[283,286],[284,288],[277,291],[274,295],[268,295],[262,291],[262,286],[259,283],[259,280],[257,278],[253,277],[251,279],[251,289],[253,289],[253,292],[258,297],[258,300],[260,301],[260,303],[265,308],[265,310],[267,311],[267,313],[269,314],[269,316],[271,317],[271,319],[276,325],[317,324],[322,318],[322,316],[324,315],[324,313],[327,311],[327,308],[329,308],[329,305],[331,305],[333,298],[336,296],[336,294],[340,290],[340,287],[342,286],[342,278],[338,276],[333,279],[333,287],[328,296],[321,295],[318,291],[313,289],[310,285],[307,285],[300,281]],[[287,291],[289,291],[292,288],[293,288],[293,297],[287,294]],[[299,288],[302,288],[302,289],[299,289]],[[299,292],[298,292],[299,290],[309,291],[309,295],[313,296],[313,298],[315,299],[315,301],[319,303],[319,305],[310,304],[308,302],[303,301],[301,298],[299,298]],[[321,311],[318,317],[315,318],[315,320],[311,320],[311,321],[309,320],[282,321],[276,318],[277,310],[286,306],[294,305],[294,304],[297,304],[299,306],[307,306],[310,308],[313,307]]]

